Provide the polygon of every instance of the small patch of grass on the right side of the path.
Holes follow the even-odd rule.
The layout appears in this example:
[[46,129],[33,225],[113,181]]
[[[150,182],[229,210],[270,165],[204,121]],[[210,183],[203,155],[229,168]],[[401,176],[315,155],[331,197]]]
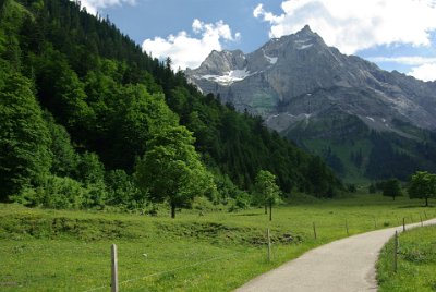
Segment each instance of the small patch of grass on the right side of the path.
[[407,231],[399,235],[399,242],[397,272],[393,272],[393,240],[380,253],[379,291],[436,291],[436,226]]

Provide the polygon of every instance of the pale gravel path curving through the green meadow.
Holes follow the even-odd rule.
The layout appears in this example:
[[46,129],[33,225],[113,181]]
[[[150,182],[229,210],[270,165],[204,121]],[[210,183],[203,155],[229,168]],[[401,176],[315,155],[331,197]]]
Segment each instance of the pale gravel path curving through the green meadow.
[[[435,224],[436,219],[424,224]],[[408,228],[421,223],[408,224]],[[375,263],[386,242],[402,227],[372,231],[325,244],[243,287],[243,291],[377,291]]]

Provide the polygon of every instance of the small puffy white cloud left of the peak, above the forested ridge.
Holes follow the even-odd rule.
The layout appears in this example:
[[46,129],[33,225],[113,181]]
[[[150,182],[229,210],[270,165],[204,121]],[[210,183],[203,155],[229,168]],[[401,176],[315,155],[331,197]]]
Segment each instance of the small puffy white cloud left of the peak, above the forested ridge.
[[221,50],[221,41],[238,41],[240,33],[232,34],[230,26],[223,21],[204,23],[194,20],[192,32],[198,38],[182,31],[167,38],[155,37],[143,42],[143,50],[153,57],[164,59],[170,57],[174,69],[197,68],[213,50]]

